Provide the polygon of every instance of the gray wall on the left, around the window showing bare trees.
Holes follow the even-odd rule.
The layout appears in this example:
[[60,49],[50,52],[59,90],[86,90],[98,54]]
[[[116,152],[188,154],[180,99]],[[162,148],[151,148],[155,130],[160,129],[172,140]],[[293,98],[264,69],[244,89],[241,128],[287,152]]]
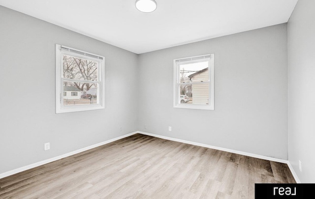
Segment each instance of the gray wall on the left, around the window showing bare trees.
[[[105,56],[105,109],[55,113],[56,44]],[[0,6],[0,174],[136,131],[137,69],[137,54]]]

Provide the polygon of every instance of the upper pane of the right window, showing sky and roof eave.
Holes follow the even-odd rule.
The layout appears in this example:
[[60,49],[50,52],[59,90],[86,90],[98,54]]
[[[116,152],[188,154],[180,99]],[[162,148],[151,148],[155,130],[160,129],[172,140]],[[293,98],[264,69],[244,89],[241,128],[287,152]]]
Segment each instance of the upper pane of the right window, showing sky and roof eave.
[[209,81],[209,62],[202,61],[180,65],[180,83]]

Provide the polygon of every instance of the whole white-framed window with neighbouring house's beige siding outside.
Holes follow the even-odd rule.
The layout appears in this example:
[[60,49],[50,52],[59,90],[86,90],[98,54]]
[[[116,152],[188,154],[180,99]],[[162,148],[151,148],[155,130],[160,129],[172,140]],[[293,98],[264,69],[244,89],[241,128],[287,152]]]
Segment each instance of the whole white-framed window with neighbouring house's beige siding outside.
[[174,60],[174,107],[214,110],[214,54]]

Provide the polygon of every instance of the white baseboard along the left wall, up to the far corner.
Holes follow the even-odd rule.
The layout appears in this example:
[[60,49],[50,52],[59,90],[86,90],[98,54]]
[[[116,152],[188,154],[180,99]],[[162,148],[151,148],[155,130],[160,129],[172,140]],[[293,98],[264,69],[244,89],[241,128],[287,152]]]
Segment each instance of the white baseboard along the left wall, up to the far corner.
[[0,179],[3,178],[3,177],[7,177],[9,175],[13,175],[13,174],[17,174],[17,173],[20,173],[20,172],[24,172],[26,170],[29,170],[29,169],[32,169],[32,168],[35,168],[35,167],[38,167],[38,166],[41,166],[41,165],[44,165],[44,164],[56,161],[56,160],[60,160],[62,158],[65,158],[65,157],[68,157],[68,156],[71,156],[71,155],[74,155],[74,154],[77,154],[77,153],[80,153],[80,152],[83,152],[83,151],[86,151],[86,150],[89,150],[89,149],[94,149],[96,147],[99,147],[99,146],[102,146],[102,145],[114,142],[116,140],[120,140],[120,139],[126,138],[126,137],[128,137],[130,135],[134,135],[136,133],[138,133],[138,132],[136,131],[136,132],[128,133],[126,135],[123,135],[123,136],[120,136],[120,137],[117,137],[117,138],[113,138],[113,139],[110,139],[110,140],[107,140],[107,141],[104,141],[104,142],[100,142],[100,143],[97,143],[95,145],[91,145],[89,147],[85,147],[85,148],[82,148],[82,149],[74,150],[74,151],[65,153],[63,155],[59,155],[59,156],[56,156],[56,157],[53,157],[53,158],[49,158],[47,160],[36,162],[36,163],[30,164],[30,165],[27,165],[27,166],[24,166],[24,167],[20,167],[18,169],[14,169],[14,170],[2,173],[2,174],[0,174]]

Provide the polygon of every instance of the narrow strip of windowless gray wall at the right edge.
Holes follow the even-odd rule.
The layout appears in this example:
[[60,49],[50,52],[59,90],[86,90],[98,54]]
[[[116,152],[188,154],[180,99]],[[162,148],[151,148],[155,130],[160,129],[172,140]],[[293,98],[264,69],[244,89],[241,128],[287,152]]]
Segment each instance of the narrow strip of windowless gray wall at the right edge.
[[302,183],[315,182],[314,8],[299,0],[288,22],[288,159]]

